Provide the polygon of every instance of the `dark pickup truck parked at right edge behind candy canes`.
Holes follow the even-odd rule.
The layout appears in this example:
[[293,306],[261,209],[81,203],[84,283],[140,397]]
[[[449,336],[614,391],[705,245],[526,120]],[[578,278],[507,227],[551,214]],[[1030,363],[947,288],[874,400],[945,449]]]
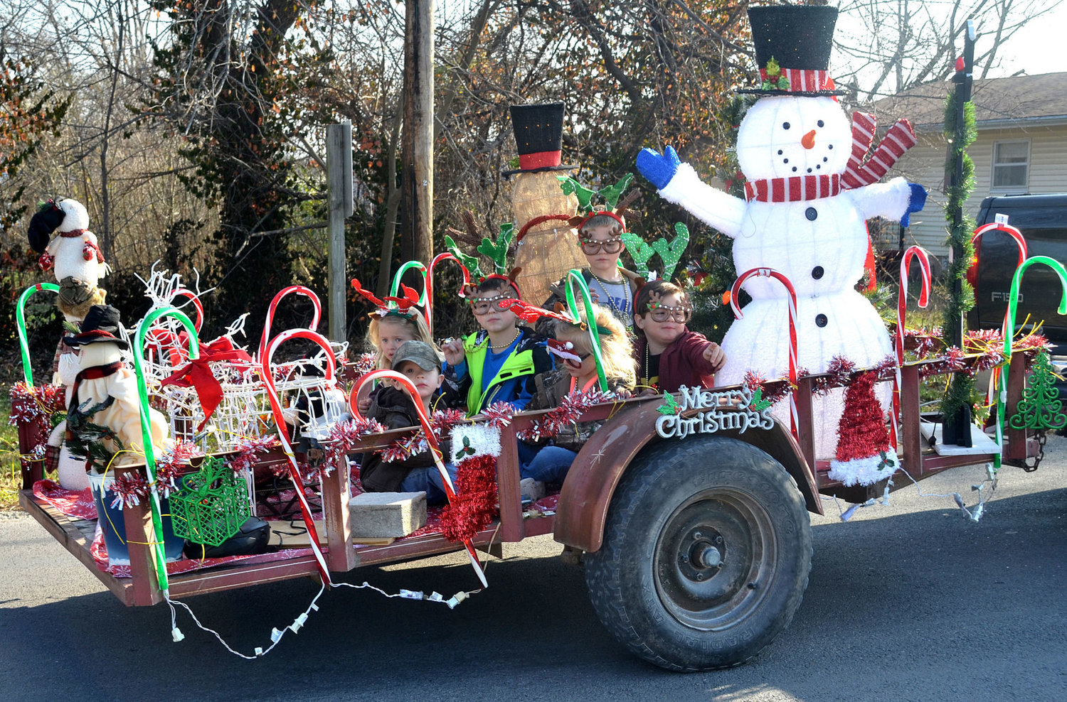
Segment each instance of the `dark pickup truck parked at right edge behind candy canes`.
[[[1029,256],[1048,256],[1067,261],[1067,194],[1005,195],[987,197],[978,209],[977,226],[1007,216],[1026,240]],[[982,235],[974,251],[968,279],[974,288],[974,308],[968,316],[972,329],[999,329],[1007,309],[1012,277],[1018,263],[1018,247],[1008,234],[991,230]],[[1031,323],[1044,321],[1044,332],[1067,354],[1067,316],[1056,312],[1062,292],[1060,279],[1048,266],[1026,270],[1020,288],[1016,323],[1030,315]]]

